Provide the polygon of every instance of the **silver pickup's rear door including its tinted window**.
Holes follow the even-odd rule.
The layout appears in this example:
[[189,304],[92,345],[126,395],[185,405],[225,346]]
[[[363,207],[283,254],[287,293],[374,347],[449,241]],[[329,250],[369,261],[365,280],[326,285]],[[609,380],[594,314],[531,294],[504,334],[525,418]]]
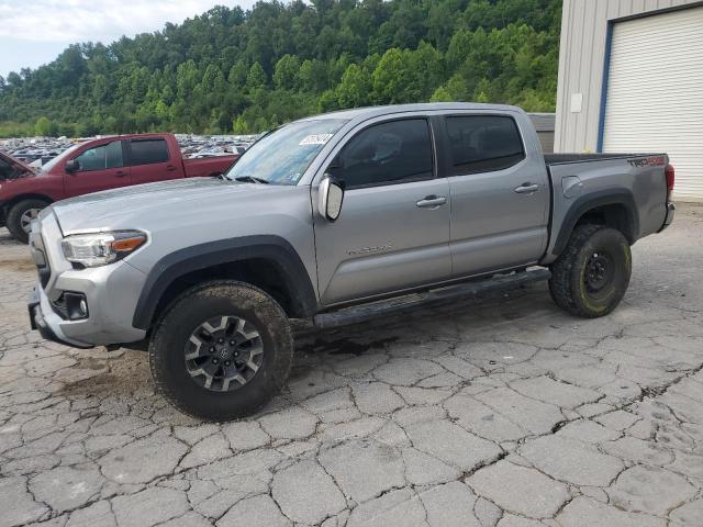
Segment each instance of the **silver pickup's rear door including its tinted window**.
[[455,278],[534,264],[545,250],[547,173],[516,119],[522,115],[444,117]]

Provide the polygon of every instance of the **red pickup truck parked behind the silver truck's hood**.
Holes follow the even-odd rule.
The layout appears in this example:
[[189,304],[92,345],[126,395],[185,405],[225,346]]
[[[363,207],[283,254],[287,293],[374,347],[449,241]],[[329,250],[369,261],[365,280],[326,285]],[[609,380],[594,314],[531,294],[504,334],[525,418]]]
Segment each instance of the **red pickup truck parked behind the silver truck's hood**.
[[0,224],[22,242],[49,203],[100,190],[169,179],[216,176],[237,155],[183,159],[171,134],[101,137],[63,152],[46,165],[0,187]]

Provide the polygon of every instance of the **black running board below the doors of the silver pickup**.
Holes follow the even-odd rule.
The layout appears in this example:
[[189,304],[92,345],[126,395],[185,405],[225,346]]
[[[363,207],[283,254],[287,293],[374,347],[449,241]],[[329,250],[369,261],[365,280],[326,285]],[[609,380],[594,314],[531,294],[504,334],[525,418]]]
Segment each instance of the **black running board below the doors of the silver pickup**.
[[448,285],[422,293],[408,294],[400,298],[380,300],[368,304],[354,305],[331,313],[320,313],[313,317],[316,327],[337,327],[369,321],[377,316],[389,315],[421,305],[445,300],[471,296],[480,293],[505,291],[528,283],[548,280],[551,272],[548,269],[535,268],[529,271],[513,272],[511,274],[495,274],[484,280]]

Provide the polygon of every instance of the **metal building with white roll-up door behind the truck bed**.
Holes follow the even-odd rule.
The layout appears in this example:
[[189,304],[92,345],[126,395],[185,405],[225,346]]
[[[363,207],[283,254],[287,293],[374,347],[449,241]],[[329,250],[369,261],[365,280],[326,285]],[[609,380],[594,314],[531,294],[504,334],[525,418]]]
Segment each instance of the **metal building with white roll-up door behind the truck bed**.
[[703,1],[563,0],[555,152],[669,154],[703,201]]

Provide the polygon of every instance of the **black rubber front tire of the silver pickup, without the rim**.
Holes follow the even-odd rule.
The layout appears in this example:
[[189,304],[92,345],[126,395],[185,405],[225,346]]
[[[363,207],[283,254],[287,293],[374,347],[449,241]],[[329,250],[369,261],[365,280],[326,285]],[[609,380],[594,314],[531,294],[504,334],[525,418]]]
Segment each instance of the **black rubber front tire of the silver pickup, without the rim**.
[[[230,392],[199,385],[185,359],[193,328],[220,315],[250,321],[264,347],[256,374]],[[156,389],[169,403],[191,416],[223,422],[253,414],[280,391],[291,367],[293,337],[286,313],[271,296],[247,283],[219,280],[190,289],[170,304],[153,330],[148,354]]]

